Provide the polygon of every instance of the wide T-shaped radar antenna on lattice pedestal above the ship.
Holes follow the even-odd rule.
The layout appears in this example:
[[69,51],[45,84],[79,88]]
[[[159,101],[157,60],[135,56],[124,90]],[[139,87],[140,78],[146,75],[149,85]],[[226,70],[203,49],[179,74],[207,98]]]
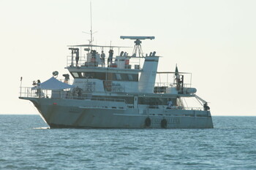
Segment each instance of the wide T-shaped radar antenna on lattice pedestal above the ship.
[[140,55],[143,57],[143,51],[141,48],[141,41],[143,39],[154,39],[154,36],[120,36],[120,39],[135,39],[135,47],[133,48],[132,56]]

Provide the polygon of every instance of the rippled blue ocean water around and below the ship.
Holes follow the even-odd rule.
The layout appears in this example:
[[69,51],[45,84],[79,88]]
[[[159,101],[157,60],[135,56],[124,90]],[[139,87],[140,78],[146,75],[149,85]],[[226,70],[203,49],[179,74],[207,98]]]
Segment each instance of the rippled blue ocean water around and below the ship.
[[256,117],[213,129],[50,129],[0,115],[0,169],[256,169]]

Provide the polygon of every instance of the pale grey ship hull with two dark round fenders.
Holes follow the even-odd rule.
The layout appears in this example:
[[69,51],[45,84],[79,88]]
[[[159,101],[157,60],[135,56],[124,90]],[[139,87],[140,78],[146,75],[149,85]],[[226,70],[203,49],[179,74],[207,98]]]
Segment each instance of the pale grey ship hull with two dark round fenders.
[[209,111],[127,108],[113,101],[23,99],[34,103],[50,128],[213,128]]

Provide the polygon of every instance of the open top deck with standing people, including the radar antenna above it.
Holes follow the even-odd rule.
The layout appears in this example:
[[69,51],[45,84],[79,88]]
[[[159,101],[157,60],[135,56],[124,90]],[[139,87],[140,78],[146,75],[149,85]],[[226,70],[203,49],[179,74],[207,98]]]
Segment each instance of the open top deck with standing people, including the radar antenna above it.
[[[156,56],[156,52],[144,54],[141,48],[141,39],[154,39],[154,36],[120,36],[121,39],[136,39],[132,55],[127,52],[129,47],[100,46],[100,45],[72,45],[69,46],[71,55],[67,56],[67,69],[89,68],[99,70],[123,70],[124,72],[142,72],[145,58],[150,60]],[[124,50],[123,50],[124,49]],[[116,57],[114,57],[116,56]],[[158,62],[158,57],[157,60]]]

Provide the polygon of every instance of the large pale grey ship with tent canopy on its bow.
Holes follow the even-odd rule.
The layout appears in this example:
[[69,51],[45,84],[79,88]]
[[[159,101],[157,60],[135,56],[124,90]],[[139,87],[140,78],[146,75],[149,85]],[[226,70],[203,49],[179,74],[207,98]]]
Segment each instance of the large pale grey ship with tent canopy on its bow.
[[[141,42],[154,36],[120,38],[134,47],[69,45],[69,74],[58,80],[55,71],[45,82],[20,85],[19,98],[31,101],[50,128],[214,128],[192,74],[177,65],[158,72],[157,53],[143,53]],[[191,98],[198,106],[187,104]]]

